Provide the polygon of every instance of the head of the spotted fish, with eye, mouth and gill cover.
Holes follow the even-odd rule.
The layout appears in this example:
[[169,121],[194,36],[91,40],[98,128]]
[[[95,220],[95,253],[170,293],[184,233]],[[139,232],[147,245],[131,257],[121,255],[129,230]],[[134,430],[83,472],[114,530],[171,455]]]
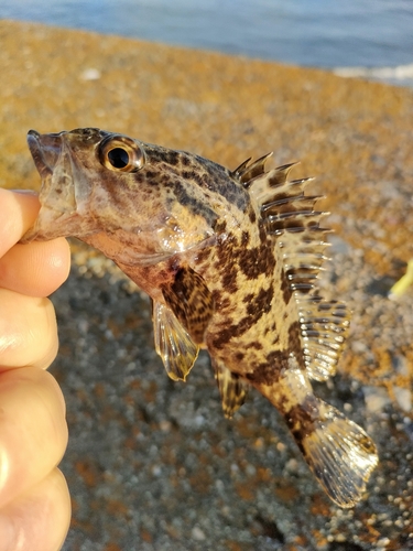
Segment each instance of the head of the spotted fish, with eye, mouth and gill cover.
[[41,210],[22,242],[74,236],[123,263],[154,263],[208,240],[216,214],[177,169],[180,154],[97,128],[28,143]]

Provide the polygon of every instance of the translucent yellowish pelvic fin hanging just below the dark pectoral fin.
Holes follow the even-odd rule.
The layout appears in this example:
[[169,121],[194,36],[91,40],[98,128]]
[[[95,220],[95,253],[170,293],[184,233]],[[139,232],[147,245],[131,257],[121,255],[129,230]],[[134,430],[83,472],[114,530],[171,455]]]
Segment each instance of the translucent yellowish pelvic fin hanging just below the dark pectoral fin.
[[199,347],[164,304],[153,302],[152,317],[155,349],[167,375],[173,380],[185,380],[198,356]]

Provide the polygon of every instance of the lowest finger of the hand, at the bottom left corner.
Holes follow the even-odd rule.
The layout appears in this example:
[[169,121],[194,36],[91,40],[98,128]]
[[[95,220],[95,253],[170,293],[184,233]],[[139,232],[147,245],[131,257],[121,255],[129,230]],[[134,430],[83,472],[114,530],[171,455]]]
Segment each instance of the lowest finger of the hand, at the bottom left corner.
[[0,551],[57,551],[69,521],[67,484],[55,468],[0,512]]

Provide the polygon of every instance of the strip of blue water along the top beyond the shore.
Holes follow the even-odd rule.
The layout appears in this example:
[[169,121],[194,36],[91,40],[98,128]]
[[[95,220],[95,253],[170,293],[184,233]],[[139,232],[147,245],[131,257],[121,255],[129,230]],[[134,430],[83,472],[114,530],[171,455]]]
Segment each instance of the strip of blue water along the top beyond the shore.
[[0,17],[413,86],[411,0],[14,0]]

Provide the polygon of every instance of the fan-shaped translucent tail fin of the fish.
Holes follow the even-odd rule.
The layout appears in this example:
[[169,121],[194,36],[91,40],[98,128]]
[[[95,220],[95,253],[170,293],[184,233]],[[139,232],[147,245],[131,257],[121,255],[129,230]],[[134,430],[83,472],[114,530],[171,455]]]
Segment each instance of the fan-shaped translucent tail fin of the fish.
[[340,507],[354,507],[378,464],[374,443],[336,408],[316,400],[319,417],[312,430],[293,431],[294,436],[333,501]]

